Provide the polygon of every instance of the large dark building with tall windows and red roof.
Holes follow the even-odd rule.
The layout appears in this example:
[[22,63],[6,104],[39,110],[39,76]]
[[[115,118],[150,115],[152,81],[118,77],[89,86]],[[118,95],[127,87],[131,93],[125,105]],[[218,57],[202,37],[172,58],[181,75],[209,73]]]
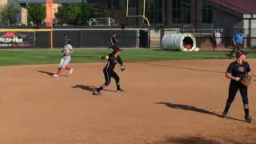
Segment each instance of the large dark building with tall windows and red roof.
[[[248,38],[256,37],[255,0],[109,0],[109,17],[128,26],[147,26],[143,15],[149,19],[150,26],[168,26],[180,29],[224,29],[226,37],[244,29]],[[223,32],[223,33],[224,33]],[[256,39],[255,39],[256,41]],[[247,46],[256,42],[248,40]]]

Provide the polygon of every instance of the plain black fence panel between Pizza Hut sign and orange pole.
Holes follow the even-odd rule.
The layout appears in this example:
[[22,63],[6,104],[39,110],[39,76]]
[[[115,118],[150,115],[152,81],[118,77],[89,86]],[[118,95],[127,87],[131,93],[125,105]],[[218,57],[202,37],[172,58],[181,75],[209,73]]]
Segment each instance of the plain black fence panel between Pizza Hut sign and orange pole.
[[35,46],[38,48],[49,48],[50,32],[35,32]]

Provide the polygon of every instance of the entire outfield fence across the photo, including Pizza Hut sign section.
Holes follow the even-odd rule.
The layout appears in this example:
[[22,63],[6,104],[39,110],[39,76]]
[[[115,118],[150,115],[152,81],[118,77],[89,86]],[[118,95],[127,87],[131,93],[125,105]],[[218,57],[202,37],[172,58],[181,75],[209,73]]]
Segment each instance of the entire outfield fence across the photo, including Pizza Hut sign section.
[[[241,29],[239,29],[241,30]],[[98,28],[55,27],[54,48],[62,47],[68,36],[76,48],[108,48],[110,37],[117,34],[119,47],[160,49],[165,34],[194,34],[201,50],[227,50],[233,47],[232,38],[239,30],[198,29],[179,30],[167,28]],[[243,47],[256,46],[256,29],[244,30]],[[0,48],[50,48],[50,29],[44,27],[0,28]]]

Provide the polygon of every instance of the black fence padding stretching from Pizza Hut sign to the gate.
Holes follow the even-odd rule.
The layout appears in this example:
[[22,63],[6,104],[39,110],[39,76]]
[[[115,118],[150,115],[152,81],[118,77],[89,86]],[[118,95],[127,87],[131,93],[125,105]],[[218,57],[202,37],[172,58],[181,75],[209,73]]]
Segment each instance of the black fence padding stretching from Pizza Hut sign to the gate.
[[[54,48],[64,46],[64,38],[68,36],[75,48],[110,46],[110,38],[117,34],[118,47],[134,48],[137,46],[138,30],[54,30]],[[146,38],[146,37],[145,37]],[[148,38],[146,38],[148,39]],[[141,40],[142,41],[142,40]],[[143,40],[144,41],[144,40]],[[148,41],[144,42],[145,44]],[[35,48],[50,48],[50,31],[35,32]]]

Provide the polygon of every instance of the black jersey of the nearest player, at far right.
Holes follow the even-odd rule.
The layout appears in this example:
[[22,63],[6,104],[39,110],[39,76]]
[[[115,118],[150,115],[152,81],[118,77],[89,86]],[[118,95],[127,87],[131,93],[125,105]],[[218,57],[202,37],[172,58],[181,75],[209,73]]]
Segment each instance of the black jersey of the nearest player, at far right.
[[226,70],[227,73],[232,74],[233,77],[245,78],[246,74],[250,72],[250,65],[248,62],[242,62],[240,65],[237,61],[230,63]]

